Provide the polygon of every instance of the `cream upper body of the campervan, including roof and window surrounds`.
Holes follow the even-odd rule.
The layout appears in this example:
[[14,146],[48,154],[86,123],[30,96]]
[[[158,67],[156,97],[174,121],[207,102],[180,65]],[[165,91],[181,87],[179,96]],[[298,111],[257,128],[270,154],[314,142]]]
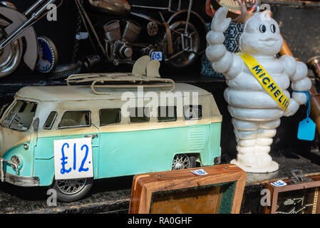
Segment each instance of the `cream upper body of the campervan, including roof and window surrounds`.
[[[58,93],[57,93],[58,91]],[[126,100],[121,100],[123,91],[111,90],[113,93],[110,95],[96,95],[92,93],[89,86],[39,86],[39,87],[25,87],[16,93],[16,100],[29,100],[38,103],[36,110],[36,117],[39,118],[39,131],[38,137],[52,137],[63,135],[86,135],[91,133],[105,133],[105,132],[126,132],[136,130],[153,130],[161,128],[179,128],[188,125],[201,125],[210,123],[222,122],[222,115],[217,108],[217,104],[211,93],[206,90],[190,86],[187,84],[177,83],[173,93],[182,95],[184,92],[191,93],[197,92],[199,94],[199,104],[202,105],[202,119],[201,120],[183,120],[183,114],[177,113],[177,121],[158,123],[155,116],[150,116],[150,122],[148,123],[130,123],[129,118],[122,117],[121,123],[114,125],[99,126],[99,110],[103,108],[121,108]],[[153,90],[146,90],[150,92]],[[128,91],[127,91],[128,92]],[[131,89],[130,92],[137,95],[136,90]],[[55,93],[55,95],[53,95]],[[183,100],[183,96],[181,96]],[[90,102],[89,102],[90,99]],[[192,95],[190,98],[192,103]],[[103,101],[103,102],[102,102]],[[144,105],[148,104],[150,100],[145,101]],[[160,98],[158,100],[160,104]],[[175,105],[177,99],[175,99]],[[58,129],[58,124],[63,116],[63,113],[67,110],[90,110],[91,122],[90,128],[68,128]],[[53,124],[51,130],[44,130],[43,125],[48,118],[51,111],[57,111],[58,116]],[[177,108],[179,112],[179,108]]]

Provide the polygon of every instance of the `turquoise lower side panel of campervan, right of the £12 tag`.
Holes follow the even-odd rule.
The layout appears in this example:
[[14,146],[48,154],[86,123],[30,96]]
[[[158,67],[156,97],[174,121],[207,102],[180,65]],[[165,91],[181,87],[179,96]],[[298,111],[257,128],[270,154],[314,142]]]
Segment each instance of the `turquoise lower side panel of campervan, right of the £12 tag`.
[[[202,165],[213,165],[214,157],[220,156],[219,130],[220,123],[216,123],[125,134],[102,134],[98,177],[171,170],[173,157],[181,153],[200,154]],[[192,132],[195,132],[195,137],[200,137],[195,138],[194,142],[190,142]],[[216,135],[212,137],[212,143],[210,135]]]

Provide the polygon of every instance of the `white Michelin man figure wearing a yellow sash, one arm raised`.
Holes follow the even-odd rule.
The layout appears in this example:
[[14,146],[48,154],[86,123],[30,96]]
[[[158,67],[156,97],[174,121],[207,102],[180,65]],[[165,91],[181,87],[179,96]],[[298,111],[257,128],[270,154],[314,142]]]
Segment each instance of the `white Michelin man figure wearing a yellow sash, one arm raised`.
[[[212,20],[212,31],[207,34],[209,45],[206,55],[212,62],[212,68],[223,73],[227,79],[228,88],[224,91],[224,98],[232,115],[238,152],[237,159],[232,163],[246,172],[274,172],[279,165],[272,160],[269,151],[280,118],[294,115],[299,105],[307,101],[306,94],[294,92],[291,96],[287,88],[291,83],[293,91],[309,90],[311,80],[307,77],[308,69],[306,64],[291,56],[275,57],[284,41],[277,22],[263,12],[254,14],[244,24],[244,33],[239,39],[242,53],[227,51],[223,45],[223,33],[231,21],[227,19],[227,12],[227,8],[220,8]],[[241,57],[243,54],[252,56],[269,74],[270,77],[264,78],[263,83],[273,80],[274,84],[264,88]],[[261,69],[257,66],[255,70]],[[260,76],[265,76],[265,73]],[[287,104],[285,109],[272,97],[279,95],[274,92],[273,86],[276,84],[289,100],[286,103],[279,98]]]

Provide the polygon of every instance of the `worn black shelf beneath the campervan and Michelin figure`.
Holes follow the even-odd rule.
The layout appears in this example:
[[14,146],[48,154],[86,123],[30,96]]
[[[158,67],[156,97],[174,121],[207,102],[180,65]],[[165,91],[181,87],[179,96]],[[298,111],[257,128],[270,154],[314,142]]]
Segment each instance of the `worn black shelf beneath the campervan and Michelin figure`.
[[[259,214],[263,212],[260,201],[264,195],[264,183],[285,180],[291,177],[291,170],[299,167],[305,175],[314,175],[320,165],[310,160],[291,154],[275,156],[282,169],[269,174],[247,174],[240,214]],[[22,188],[0,183],[0,213],[28,214],[66,214],[66,213],[128,213],[133,176],[116,177],[99,180],[88,193],[78,202],[58,202],[56,206],[48,206],[46,195],[48,188]]]

